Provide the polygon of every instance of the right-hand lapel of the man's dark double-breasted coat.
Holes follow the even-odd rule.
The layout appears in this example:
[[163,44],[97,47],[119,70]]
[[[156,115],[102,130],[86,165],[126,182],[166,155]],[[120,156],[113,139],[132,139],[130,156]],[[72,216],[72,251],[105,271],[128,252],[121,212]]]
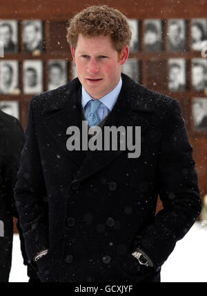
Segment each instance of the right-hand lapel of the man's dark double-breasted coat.
[[[148,115],[153,112],[148,104],[140,103],[139,101],[139,84],[132,79],[121,74],[123,85],[121,92],[115,103],[114,108],[110,112],[108,119],[102,127],[102,135],[104,126],[141,126],[141,136],[146,132],[149,122]],[[147,116],[146,116],[147,115]],[[136,124],[135,124],[136,123]],[[119,138],[118,138],[119,139]],[[103,143],[103,137],[102,137]],[[88,150],[86,157],[83,159],[83,164],[77,173],[77,181],[81,181],[95,174],[111,161],[119,157],[123,152],[130,152],[129,150]]]

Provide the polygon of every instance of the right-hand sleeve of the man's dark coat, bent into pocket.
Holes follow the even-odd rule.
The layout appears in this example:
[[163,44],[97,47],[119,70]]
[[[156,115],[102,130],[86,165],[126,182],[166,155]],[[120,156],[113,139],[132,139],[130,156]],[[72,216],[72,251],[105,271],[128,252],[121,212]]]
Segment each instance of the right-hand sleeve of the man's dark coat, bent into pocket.
[[141,248],[158,268],[201,212],[193,147],[188,142],[179,102],[172,99],[171,106],[161,139],[157,170],[157,192],[163,209],[135,240],[135,246]]

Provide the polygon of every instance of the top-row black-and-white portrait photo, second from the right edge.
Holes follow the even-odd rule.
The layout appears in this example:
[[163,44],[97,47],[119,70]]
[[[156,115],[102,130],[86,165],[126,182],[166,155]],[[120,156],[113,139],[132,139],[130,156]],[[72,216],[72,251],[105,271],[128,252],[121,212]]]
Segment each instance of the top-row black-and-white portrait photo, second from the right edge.
[[186,21],[184,19],[170,19],[168,37],[170,51],[186,50]]

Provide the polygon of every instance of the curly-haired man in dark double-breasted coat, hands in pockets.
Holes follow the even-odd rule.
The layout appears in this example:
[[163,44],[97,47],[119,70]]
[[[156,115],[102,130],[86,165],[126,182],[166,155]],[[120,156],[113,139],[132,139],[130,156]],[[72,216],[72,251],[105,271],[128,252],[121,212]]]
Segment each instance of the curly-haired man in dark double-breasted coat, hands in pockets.
[[[159,282],[161,265],[200,213],[179,103],[121,73],[130,37],[118,10],[79,12],[67,35],[78,78],[30,102],[14,193],[42,282]],[[92,149],[93,130],[104,141],[108,128],[121,127],[137,127],[136,137],[141,127],[139,157],[111,144]],[[155,216],[158,193],[164,210]]]

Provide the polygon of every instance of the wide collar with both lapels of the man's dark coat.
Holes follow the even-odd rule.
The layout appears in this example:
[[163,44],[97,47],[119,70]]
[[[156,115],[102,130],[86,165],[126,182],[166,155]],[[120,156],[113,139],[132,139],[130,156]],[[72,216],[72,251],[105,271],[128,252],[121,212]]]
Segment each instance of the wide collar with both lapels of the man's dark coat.
[[[121,73],[123,84],[121,92],[114,108],[108,115],[104,126],[141,126],[141,135],[146,132],[149,126],[149,115],[154,112],[150,99],[146,96],[146,88],[139,83],[130,79],[127,75]],[[61,151],[68,155],[79,166],[77,180],[86,179],[95,172],[98,172],[113,159],[119,157],[121,153],[128,150],[95,150],[82,151],[66,148],[68,135],[66,130],[69,126],[77,126],[81,132],[81,83],[79,79],[73,79],[72,83],[68,83],[65,93],[57,92],[55,101],[61,101],[59,108],[55,108],[56,112],[46,115],[44,124],[50,132],[51,137],[58,142]],[[66,96],[67,93],[67,96]],[[63,96],[66,97],[66,103],[63,103]],[[57,104],[56,104],[57,106]],[[58,110],[57,110],[58,109]],[[102,130],[103,130],[102,128]]]

